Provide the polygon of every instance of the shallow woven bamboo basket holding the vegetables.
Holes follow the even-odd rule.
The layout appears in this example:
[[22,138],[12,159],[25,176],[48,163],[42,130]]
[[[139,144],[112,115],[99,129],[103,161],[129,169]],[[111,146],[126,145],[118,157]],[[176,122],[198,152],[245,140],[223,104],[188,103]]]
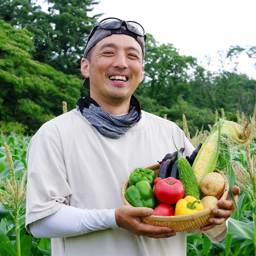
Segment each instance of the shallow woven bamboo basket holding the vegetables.
[[[155,172],[156,176],[158,175],[158,171],[160,168],[160,164],[157,163],[155,165],[148,166],[144,169],[151,169]],[[215,168],[215,172],[218,172],[222,175],[225,180],[225,186],[222,190],[221,194],[218,195],[218,200],[226,200],[229,194],[229,183],[227,181],[226,176]],[[122,197],[125,205],[131,205],[125,198],[125,191],[128,188],[129,179],[125,182],[122,189]],[[146,224],[152,226],[167,226],[170,227],[175,232],[183,232],[189,231],[194,229],[199,229],[203,226],[209,224],[207,221],[208,218],[213,217],[212,209],[219,208],[217,203],[213,204],[212,207],[206,208],[196,213],[191,213],[187,215],[179,215],[179,216],[157,216],[157,215],[150,215],[141,217],[142,221]]]

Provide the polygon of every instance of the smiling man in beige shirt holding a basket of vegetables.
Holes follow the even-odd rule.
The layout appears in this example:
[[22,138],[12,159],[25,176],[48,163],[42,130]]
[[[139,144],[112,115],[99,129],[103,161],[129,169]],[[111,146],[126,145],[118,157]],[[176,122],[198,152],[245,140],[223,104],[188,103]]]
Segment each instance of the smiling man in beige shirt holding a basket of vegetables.
[[[184,155],[193,151],[177,125],[141,111],[132,95],[143,79],[145,39],[136,22],[99,22],[81,62],[90,96],[45,123],[29,144],[26,227],[52,238],[53,256],[186,255],[186,232],[143,224],[140,216],[152,209],[123,206],[130,173],[175,151],[172,131]],[[235,209],[232,201],[219,205],[201,229],[213,242],[224,238]]]

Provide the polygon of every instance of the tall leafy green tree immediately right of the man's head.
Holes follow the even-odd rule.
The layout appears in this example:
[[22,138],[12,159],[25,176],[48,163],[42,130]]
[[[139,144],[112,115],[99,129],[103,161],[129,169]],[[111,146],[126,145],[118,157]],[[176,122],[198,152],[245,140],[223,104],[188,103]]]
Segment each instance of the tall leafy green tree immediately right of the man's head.
[[196,66],[196,59],[181,56],[172,44],[159,44],[152,35],[147,34],[144,81],[139,93],[155,99],[159,105],[171,107],[182,94],[190,93],[187,84],[189,70]]

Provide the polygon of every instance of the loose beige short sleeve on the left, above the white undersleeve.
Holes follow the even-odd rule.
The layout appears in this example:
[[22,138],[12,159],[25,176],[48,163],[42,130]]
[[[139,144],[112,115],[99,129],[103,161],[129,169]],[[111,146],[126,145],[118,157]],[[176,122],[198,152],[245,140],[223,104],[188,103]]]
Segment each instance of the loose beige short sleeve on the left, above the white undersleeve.
[[[55,137],[59,134],[56,131]],[[62,145],[44,130],[30,140],[27,149],[27,224],[55,213],[69,204],[72,190],[63,156]]]

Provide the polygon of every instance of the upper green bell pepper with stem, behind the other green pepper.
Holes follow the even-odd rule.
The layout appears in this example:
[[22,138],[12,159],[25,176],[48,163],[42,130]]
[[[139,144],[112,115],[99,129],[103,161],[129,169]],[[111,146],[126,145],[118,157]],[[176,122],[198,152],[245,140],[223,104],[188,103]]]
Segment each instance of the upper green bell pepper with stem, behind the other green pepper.
[[136,185],[136,183],[140,180],[148,181],[151,187],[154,186],[154,178],[155,173],[154,171],[150,169],[144,170],[143,168],[137,168],[135,169],[131,174],[129,178],[129,187],[132,185]]

